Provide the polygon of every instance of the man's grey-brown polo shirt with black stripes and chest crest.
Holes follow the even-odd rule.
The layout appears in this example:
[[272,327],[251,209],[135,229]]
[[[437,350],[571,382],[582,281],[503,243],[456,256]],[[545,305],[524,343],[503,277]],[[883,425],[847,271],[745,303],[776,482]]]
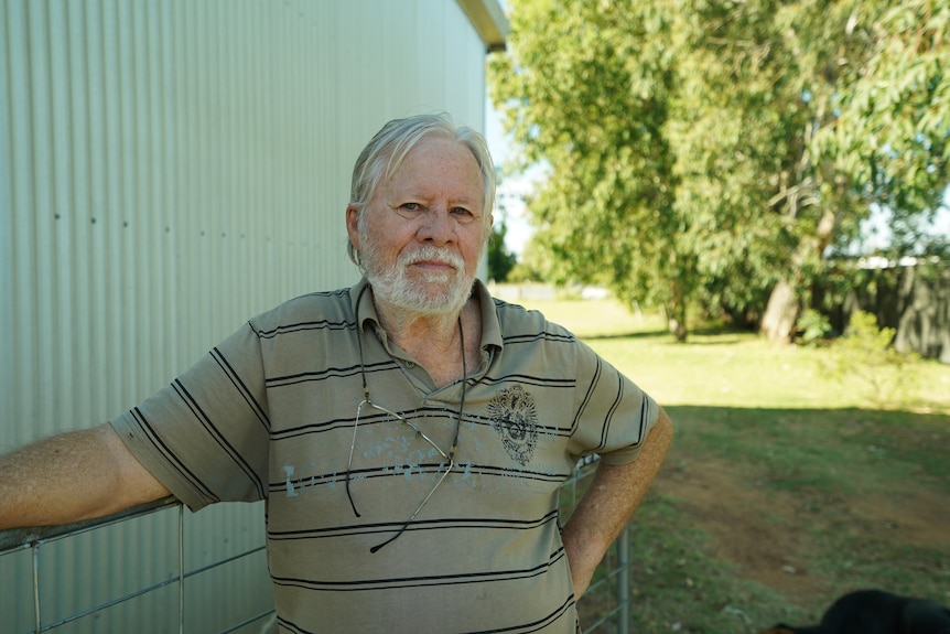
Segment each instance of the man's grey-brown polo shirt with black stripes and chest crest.
[[461,380],[436,387],[387,340],[364,287],[250,320],[112,426],[193,511],[266,499],[281,632],[574,632],[559,486],[584,455],[633,461],[656,404],[476,282],[462,406]]

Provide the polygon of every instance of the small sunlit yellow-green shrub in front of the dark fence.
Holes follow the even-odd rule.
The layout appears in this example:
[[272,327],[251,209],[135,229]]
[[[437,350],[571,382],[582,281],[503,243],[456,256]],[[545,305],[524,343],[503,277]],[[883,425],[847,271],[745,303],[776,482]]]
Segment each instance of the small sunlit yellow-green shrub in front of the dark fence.
[[897,351],[895,334],[893,327],[878,327],[872,313],[853,313],[824,359],[825,374],[845,386],[856,380],[874,402],[905,399],[917,382],[919,355]]

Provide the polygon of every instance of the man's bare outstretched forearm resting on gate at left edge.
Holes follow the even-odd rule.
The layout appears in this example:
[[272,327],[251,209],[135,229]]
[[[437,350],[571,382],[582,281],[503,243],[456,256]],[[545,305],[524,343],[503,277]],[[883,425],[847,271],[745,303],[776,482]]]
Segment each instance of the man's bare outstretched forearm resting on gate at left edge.
[[0,529],[101,517],[168,495],[109,423],[0,456]]

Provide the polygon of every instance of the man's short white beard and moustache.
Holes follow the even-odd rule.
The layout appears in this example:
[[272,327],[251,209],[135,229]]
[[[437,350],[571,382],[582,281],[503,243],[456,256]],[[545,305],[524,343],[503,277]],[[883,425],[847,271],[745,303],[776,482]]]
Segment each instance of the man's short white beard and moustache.
[[[422,246],[399,256],[396,266],[386,267],[377,258],[378,243],[360,227],[360,268],[373,287],[377,301],[422,314],[453,314],[462,310],[472,292],[474,276],[465,270],[464,260],[454,252]],[[419,279],[408,276],[409,267],[418,261],[436,260],[453,267],[451,271],[427,272]]]

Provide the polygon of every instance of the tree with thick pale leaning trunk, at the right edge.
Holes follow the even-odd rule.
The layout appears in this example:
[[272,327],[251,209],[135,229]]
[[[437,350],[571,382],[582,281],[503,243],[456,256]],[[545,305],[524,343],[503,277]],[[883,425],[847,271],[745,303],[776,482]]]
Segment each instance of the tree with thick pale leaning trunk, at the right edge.
[[853,238],[873,205],[900,225],[935,213],[948,185],[950,2],[820,2],[833,11],[818,15],[810,4],[778,20],[803,52],[814,111],[791,187],[808,205],[784,207],[796,248],[762,324],[773,340],[792,335],[825,250]]

